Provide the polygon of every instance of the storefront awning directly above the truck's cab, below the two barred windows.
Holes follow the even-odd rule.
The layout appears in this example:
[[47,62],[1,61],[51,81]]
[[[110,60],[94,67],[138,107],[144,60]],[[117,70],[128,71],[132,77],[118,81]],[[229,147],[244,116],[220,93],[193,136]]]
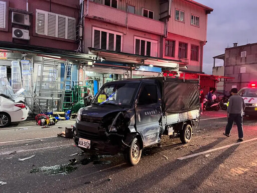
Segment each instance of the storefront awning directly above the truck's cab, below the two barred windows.
[[157,57],[141,56],[136,54],[114,52],[108,50],[101,50],[96,48],[89,48],[90,53],[96,54],[98,57],[105,58],[107,61],[127,63],[131,67],[135,66],[154,66],[165,69],[178,71],[180,60],[168,60]]

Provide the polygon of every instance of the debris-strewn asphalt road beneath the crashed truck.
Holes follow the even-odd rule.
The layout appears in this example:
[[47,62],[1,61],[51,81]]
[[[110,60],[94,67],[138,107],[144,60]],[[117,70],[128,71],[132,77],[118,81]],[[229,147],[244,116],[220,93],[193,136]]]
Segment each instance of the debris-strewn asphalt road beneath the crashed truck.
[[225,137],[226,118],[214,117],[224,113],[208,112],[187,145],[163,137],[133,167],[122,154],[71,156],[81,150],[57,137],[65,125],[0,130],[0,192],[257,192],[257,120],[243,120],[238,143],[236,126]]

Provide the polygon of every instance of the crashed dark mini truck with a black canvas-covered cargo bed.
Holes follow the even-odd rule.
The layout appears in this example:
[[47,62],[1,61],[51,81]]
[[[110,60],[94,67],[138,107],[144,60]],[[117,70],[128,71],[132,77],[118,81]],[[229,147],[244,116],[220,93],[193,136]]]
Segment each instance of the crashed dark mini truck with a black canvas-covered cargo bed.
[[126,79],[103,84],[92,104],[78,111],[74,142],[86,152],[117,154],[136,165],[145,147],[162,135],[192,138],[199,121],[198,81],[179,78]]

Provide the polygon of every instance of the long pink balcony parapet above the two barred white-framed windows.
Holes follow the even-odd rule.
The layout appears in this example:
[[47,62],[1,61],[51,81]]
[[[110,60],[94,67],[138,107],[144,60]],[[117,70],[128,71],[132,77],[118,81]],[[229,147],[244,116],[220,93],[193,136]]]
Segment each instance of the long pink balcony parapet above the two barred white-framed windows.
[[[87,11],[88,8],[88,11]],[[136,14],[126,13],[122,10],[110,8],[101,4],[89,1],[85,6],[87,17],[105,21],[108,23],[129,27],[130,29],[144,32],[165,35],[165,23],[145,18]]]

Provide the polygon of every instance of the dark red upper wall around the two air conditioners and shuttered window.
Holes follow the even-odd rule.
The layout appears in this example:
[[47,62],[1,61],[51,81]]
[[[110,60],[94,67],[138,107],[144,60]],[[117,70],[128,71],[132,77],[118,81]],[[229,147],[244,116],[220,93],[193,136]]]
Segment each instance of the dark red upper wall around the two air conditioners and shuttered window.
[[[1,0],[2,1],[2,0]],[[27,10],[27,0],[5,0],[9,3],[9,8]],[[50,47],[56,49],[65,49],[74,51],[78,48],[77,43],[71,40],[66,40],[62,38],[55,38],[49,36],[43,36],[36,34],[35,22],[36,22],[36,9],[44,10],[50,12],[50,0],[28,0],[29,12],[33,13],[31,15],[31,26],[29,27],[30,31],[30,40],[19,40],[12,38],[12,27],[25,29],[20,25],[12,25],[12,12],[8,11],[9,22],[8,22],[8,32],[0,30],[0,41],[14,42],[19,44],[26,45],[35,45],[42,47]],[[51,12],[73,17],[76,19],[76,24],[78,23],[79,18],[79,0],[51,0]]]

